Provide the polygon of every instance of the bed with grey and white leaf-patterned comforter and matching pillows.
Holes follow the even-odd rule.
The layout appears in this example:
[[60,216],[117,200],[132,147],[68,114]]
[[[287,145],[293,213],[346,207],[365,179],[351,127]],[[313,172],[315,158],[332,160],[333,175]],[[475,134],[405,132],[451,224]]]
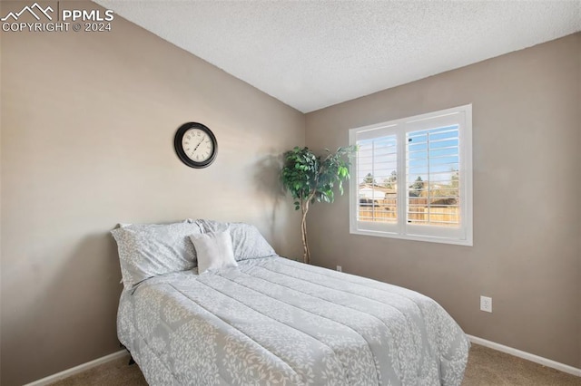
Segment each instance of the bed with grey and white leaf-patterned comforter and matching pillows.
[[[171,226],[113,230],[125,285],[118,336],[149,384],[461,383],[468,339],[427,296],[277,256],[246,224]],[[226,232],[235,263],[199,274],[192,232]],[[165,272],[172,258],[180,269]],[[154,262],[136,274],[143,259]]]

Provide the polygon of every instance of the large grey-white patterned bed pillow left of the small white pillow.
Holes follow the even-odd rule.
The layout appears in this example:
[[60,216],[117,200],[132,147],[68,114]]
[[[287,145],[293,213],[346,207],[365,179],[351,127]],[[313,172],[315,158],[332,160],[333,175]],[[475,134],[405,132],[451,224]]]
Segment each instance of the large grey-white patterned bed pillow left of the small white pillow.
[[200,233],[201,227],[188,221],[122,225],[113,229],[123,287],[130,290],[150,277],[192,269],[197,259],[188,237]]

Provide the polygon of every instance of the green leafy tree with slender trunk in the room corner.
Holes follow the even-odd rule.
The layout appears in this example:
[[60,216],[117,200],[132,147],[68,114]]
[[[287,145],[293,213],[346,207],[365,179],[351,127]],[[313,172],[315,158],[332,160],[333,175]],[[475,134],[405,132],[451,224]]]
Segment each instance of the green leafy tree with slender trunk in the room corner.
[[295,210],[300,210],[300,232],[302,236],[303,261],[310,263],[309,241],[307,239],[307,212],[315,202],[333,202],[335,188],[343,194],[343,181],[350,178],[350,156],[356,146],[339,148],[335,152],[326,150],[323,156],[316,156],[309,148],[295,147],[284,153],[281,179],[284,188],[291,192]]

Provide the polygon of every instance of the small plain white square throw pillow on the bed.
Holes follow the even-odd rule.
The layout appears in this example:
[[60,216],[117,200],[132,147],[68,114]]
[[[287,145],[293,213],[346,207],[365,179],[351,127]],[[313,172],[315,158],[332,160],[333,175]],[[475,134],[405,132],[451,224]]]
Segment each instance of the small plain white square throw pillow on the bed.
[[192,235],[190,239],[198,256],[198,274],[227,266],[238,266],[228,230]]

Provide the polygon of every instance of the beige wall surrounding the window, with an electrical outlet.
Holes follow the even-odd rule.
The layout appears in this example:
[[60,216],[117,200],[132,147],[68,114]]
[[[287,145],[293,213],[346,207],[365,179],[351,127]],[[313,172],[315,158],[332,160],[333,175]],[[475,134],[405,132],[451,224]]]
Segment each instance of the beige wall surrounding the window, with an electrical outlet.
[[571,35],[307,114],[320,150],[350,128],[473,103],[474,246],[350,235],[342,197],[312,208],[313,263],[418,290],[466,333],[581,367],[580,55]]

